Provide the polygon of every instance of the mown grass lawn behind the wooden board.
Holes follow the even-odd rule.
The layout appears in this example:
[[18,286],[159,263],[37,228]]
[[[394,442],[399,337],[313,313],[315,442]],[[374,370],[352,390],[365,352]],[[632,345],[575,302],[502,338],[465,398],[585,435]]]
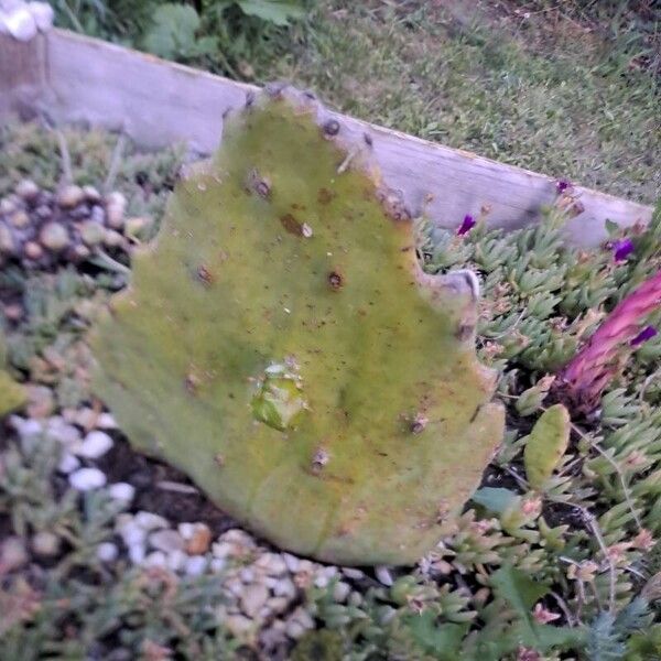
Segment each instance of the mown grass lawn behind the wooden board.
[[661,95],[640,66],[649,47],[638,29],[605,32],[540,2],[524,19],[501,4],[324,1],[290,32],[286,54],[253,62],[256,75],[292,79],[376,123],[653,203]]

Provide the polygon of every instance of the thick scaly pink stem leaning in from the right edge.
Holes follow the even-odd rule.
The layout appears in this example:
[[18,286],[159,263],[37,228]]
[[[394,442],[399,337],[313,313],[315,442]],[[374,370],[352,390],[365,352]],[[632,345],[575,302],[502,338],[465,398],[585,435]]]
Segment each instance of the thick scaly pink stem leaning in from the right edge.
[[621,301],[585,347],[559,375],[566,399],[582,408],[596,408],[602,391],[617,373],[621,348],[640,332],[644,318],[661,305],[661,271]]

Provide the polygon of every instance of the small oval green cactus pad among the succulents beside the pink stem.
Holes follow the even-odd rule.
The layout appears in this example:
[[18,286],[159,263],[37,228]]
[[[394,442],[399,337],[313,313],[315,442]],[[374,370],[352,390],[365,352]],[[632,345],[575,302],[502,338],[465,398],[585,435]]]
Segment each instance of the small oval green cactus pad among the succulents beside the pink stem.
[[554,404],[535,422],[523,451],[528,481],[542,490],[560,464],[570,442],[572,423],[568,411]]

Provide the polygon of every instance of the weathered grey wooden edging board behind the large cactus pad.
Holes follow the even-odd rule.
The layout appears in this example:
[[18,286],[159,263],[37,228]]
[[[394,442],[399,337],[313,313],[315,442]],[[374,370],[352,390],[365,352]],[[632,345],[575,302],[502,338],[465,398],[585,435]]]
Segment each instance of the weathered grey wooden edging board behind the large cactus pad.
[[[224,112],[242,105],[252,89],[62,30],[18,46],[0,35],[0,112],[28,107],[57,122],[121,129],[148,148],[185,141],[192,150],[209,153],[219,141]],[[512,229],[533,220],[540,206],[555,196],[555,182],[548,176],[338,118],[349,132],[369,132],[386,181],[402,191],[413,213],[425,206],[440,226],[455,227],[465,214],[477,215],[488,205],[490,223]],[[651,217],[648,206],[577,191],[585,212],[568,228],[577,245],[603,241],[607,218],[628,226]],[[425,205],[430,195],[433,199]]]

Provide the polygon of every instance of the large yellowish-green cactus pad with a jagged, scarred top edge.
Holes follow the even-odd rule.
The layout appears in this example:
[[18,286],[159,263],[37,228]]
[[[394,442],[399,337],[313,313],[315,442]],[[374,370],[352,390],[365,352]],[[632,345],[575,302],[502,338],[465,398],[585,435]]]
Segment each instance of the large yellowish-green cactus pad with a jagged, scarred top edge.
[[277,545],[414,562],[503,431],[476,279],[427,275],[371,140],[273,87],[177,184],[91,343],[132,445]]

